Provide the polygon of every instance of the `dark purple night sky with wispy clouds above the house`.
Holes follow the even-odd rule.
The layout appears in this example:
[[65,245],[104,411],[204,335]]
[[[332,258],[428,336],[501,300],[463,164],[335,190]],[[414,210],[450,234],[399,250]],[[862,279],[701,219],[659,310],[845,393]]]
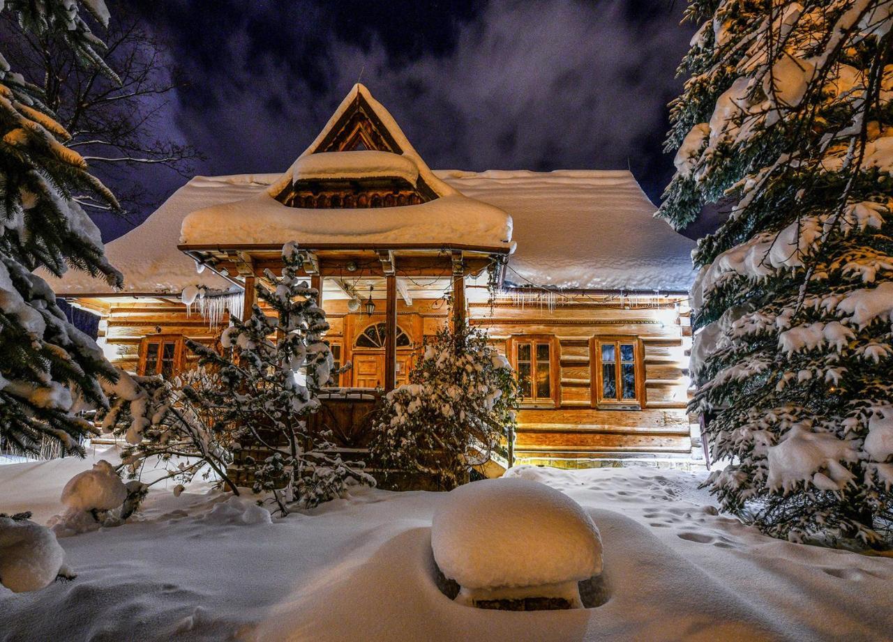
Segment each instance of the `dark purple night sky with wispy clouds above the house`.
[[[200,174],[288,169],[362,77],[434,169],[631,169],[654,202],[672,176],[678,0],[128,4],[188,78],[162,135],[204,152]],[[160,203],[184,180],[145,182]]]

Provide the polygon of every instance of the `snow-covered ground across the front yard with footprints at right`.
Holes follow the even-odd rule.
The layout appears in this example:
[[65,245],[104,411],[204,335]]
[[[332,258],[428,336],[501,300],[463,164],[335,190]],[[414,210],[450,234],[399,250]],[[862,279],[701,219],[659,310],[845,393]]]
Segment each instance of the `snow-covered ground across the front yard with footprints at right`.
[[[99,457],[114,453],[0,465],[0,512],[46,523],[65,482]],[[174,497],[171,484],[123,526],[60,539],[76,580],[0,587],[0,639],[890,638],[893,559],[766,538],[717,515],[698,474],[513,473],[563,490],[595,520],[605,605],[511,613],[450,601],[430,551],[444,494],[363,489],[270,519],[207,485]]]

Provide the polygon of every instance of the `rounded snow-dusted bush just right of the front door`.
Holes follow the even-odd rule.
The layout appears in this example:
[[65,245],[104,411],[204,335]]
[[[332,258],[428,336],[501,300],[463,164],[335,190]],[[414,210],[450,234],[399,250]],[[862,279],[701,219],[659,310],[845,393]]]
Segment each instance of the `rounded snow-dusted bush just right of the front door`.
[[426,339],[409,382],[388,392],[375,418],[371,456],[386,475],[424,473],[450,490],[512,439],[518,383],[481,330],[442,328]]

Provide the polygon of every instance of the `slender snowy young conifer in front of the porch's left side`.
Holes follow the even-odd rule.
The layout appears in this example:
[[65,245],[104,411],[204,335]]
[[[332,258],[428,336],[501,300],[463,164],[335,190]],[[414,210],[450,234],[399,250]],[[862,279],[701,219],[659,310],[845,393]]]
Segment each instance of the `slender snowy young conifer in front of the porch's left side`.
[[279,490],[273,497],[282,511],[294,499],[299,506],[316,506],[343,495],[349,483],[374,483],[363,464],[345,462],[326,435],[307,430],[307,417],[320,407],[317,393],[329,381],[333,366],[322,333],[326,315],[316,305],[318,292],[299,278],[309,257],[295,243],[282,248],[282,275],[267,270],[276,284],[269,292],[257,286],[257,298],[276,317],[267,317],[255,304],[245,322],[232,320],[221,335],[224,353],[188,342],[202,366],[219,373],[221,385],[196,396],[219,424],[235,426],[243,446],[271,452],[255,468],[255,492]]

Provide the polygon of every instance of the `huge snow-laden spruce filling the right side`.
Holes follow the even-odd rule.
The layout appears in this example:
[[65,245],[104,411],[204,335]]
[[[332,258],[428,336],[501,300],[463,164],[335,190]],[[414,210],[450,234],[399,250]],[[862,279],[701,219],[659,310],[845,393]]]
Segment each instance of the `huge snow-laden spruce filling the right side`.
[[792,540],[893,518],[891,0],[691,0],[660,216],[730,206],[693,258],[690,408],[722,506]]

